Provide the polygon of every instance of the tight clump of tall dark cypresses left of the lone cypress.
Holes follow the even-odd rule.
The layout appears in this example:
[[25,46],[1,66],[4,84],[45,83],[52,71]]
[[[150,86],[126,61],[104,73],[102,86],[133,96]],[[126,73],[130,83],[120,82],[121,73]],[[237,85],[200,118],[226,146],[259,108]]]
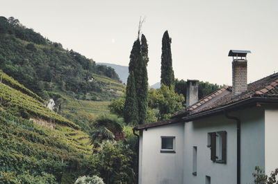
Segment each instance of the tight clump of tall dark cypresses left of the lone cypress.
[[[136,39],[133,43],[129,62],[129,77],[133,75],[135,95],[130,92],[132,83],[132,77],[127,82],[126,86],[126,104],[124,107],[124,120],[128,122],[134,122],[144,124],[147,118],[147,95],[148,95],[148,77],[147,77],[147,62],[148,46],[145,35],[140,39]],[[132,73],[132,74],[131,74]],[[134,106],[135,102],[131,103],[131,98],[137,102],[137,107]],[[129,102],[127,102],[129,100]],[[134,111],[133,111],[134,110]],[[135,112],[136,110],[136,112]],[[137,119],[132,117],[136,116]],[[137,122],[136,122],[137,121]]]

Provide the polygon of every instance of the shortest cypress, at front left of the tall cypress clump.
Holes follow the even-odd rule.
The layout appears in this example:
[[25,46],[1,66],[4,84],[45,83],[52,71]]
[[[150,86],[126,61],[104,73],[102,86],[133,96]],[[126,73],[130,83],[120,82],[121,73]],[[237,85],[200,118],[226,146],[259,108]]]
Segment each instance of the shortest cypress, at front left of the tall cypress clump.
[[124,104],[124,122],[138,124],[138,103],[133,71],[129,73],[126,86],[126,102]]

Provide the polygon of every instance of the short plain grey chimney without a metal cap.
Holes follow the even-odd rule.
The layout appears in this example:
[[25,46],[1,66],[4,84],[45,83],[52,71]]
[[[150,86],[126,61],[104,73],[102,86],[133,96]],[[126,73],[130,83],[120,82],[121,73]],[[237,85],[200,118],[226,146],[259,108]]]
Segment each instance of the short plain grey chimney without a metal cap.
[[187,80],[186,82],[186,107],[198,102],[199,80]]

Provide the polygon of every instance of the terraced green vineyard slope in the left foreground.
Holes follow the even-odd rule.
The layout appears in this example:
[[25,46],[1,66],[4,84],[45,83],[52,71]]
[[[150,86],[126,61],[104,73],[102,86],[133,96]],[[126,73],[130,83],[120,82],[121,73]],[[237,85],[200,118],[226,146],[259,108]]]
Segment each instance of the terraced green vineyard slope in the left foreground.
[[13,78],[0,77],[0,183],[72,183],[84,174],[88,134]]

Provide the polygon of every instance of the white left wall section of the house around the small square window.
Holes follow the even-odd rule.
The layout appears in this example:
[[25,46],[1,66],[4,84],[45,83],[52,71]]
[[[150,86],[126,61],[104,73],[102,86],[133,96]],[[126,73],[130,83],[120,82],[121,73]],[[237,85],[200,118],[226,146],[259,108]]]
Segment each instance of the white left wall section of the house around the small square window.
[[[175,137],[176,153],[161,153],[161,136]],[[140,184],[183,183],[183,122],[142,131]]]

